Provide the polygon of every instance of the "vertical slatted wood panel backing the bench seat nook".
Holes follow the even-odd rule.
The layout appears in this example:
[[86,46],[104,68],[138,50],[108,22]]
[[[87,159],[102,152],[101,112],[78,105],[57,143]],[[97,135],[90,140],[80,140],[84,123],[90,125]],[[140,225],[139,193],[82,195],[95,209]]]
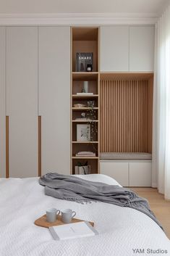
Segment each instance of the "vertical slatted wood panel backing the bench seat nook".
[[101,152],[148,152],[148,80],[101,80]]

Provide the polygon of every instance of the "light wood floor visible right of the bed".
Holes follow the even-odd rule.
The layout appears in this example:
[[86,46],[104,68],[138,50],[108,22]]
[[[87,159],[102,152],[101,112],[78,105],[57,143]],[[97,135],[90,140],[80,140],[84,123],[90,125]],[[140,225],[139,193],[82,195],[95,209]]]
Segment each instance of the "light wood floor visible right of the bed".
[[163,194],[159,194],[157,189],[132,187],[130,189],[137,192],[140,197],[148,199],[151,210],[161,222],[166,236],[170,239],[170,201],[163,199]]

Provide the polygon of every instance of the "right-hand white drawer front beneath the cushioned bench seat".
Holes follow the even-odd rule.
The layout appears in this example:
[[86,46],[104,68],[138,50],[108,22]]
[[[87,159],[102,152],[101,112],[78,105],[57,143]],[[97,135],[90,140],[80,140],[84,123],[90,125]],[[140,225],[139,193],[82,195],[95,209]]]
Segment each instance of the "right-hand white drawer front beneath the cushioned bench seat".
[[151,186],[152,162],[129,162],[129,186]]

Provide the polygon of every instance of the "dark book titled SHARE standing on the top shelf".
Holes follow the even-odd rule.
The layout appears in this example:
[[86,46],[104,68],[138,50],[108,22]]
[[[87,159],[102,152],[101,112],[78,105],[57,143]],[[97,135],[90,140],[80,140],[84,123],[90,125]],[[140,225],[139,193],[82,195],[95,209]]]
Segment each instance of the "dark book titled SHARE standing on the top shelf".
[[93,67],[93,52],[77,52],[76,53],[75,70],[77,72],[86,72],[87,66],[89,64]]

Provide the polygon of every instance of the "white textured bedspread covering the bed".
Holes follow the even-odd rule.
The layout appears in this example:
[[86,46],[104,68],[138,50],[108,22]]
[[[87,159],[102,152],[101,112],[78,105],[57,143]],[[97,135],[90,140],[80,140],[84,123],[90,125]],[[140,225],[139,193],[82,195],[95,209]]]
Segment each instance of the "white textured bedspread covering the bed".
[[[117,184],[104,175],[80,177]],[[49,207],[72,208],[77,212],[77,218],[94,221],[99,235],[54,241],[47,228],[34,225],[34,220],[45,214]],[[38,178],[0,179],[0,256],[137,255],[133,249],[145,249],[142,255],[170,255],[169,239],[142,212],[103,202],[81,205],[48,197]],[[168,253],[148,253],[147,249],[167,250]]]

